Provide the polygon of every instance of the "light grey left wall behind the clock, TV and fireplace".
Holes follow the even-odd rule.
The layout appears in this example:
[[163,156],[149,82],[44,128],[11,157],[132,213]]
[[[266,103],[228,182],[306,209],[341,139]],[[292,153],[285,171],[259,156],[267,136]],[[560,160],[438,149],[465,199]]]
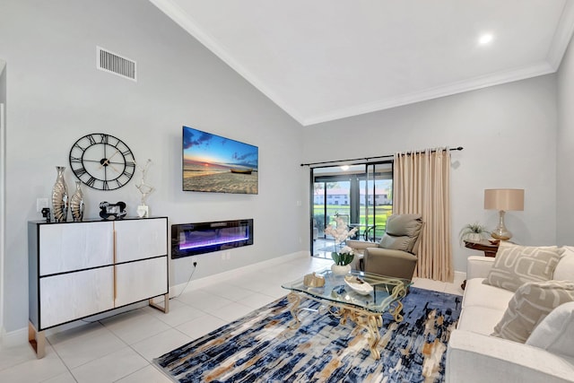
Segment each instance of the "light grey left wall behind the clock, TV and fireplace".
[[[48,197],[57,165],[68,187],[71,145],[89,133],[124,140],[142,163],[152,215],[170,223],[254,218],[255,244],[197,256],[194,278],[307,248],[307,198],[298,182],[302,127],[230,70],[149,2],[22,0],[3,2],[0,57],[6,61],[6,241],[4,327],[27,326],[26,222],[41,219],[36,199]],[[134,83],[96,69],[96,46],[137,61]],[[259,147],[257,196],[181,191],[181,126],[194,126]],[[84,187],[87,217],[101,201],[124,201],[135,215],[138,175],[116,191]],[[192,259],[170,262],[170,285],[187,282]]]

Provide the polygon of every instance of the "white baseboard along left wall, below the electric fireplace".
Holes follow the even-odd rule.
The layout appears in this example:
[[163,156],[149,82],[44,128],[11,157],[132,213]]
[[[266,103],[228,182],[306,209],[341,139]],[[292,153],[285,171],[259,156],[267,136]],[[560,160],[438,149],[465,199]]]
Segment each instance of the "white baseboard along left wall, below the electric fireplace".
[[245,265],[245,266],[241,266],[239,268],[228,270],[228,271],[225,271],[222,273],[208,275],[208,276],[205,276],[204,278],[195,279],[192,283],[193,286],[188,286],[187,283],[180,283],[180,284],[177,284],[175,286],[170,287],[170,297],[178,296],[179,294],[184,292],[184,289],[186,289],[186,288],[187,288],[187,290],[201,289],[202,287],[205,287],[205,286],[213,284],[213,283],[225,282],[232,277],[237,277],[238,275],[248,274],[248,273],[251,273],[253,271],[267,268],[269,266],[281,265],[285,262],[299,259],[301,257],[310,257],[309,251],[298,251],[296,253],[287,254],[287,255],[282,256],[282,257],[275,257],[275,258],[271,258],[271,259],[266,259],[265,261],[257,262],[256,264]]

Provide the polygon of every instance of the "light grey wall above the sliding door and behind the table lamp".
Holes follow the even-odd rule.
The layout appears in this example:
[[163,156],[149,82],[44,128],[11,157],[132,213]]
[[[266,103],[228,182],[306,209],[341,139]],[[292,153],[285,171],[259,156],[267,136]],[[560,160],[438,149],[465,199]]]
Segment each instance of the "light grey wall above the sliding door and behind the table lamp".
[[498,222],[497,212],[483,210],[485,188],[524,188],[524,212],[506,214],[513,240],[555,243],[556,125],[555,75],[546,75],[309,126],[304,159],[463,146],[464,151],[452,153],[451,235],[455,269],[465,271],[466,257],[477,253],[459,247],[460,229],[471,222],[494,228]]

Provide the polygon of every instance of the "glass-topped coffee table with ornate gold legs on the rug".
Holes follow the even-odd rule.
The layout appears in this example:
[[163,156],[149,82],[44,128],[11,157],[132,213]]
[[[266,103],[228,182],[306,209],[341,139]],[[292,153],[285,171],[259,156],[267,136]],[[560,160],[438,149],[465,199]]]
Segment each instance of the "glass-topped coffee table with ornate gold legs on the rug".
[[320,277],[325,279],[323,286],[312,287],[316,283],[309,283],[306,278],[282,285],[283,289],[290,291],[287,299],[291,303],[293,316],[291,328],[300,326],[298,314],[304,309],[300,308],[301,300],[316,300],[322,304],[321,308],[340,318],[342,325],[347,320],[352,320],[364,328],[367,331],[370,354],[378,360],[380,358],[377,349],[380,340],[378,328],[383,325],[382,315],[388,311],[397,323],[403,320],[401,299],[406,295],[412,282],[360,271],[336,275],[331,270],[323,270],[316,272],[315,275],[319,280]]

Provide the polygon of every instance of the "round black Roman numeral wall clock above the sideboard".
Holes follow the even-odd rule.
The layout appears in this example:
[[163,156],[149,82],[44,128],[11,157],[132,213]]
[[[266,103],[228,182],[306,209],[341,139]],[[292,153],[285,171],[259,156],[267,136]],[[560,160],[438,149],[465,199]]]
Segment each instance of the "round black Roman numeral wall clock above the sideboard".
[[134,153],[113,135],[84,135],[70,150],[70,168],[84,184],[98,190],[123,187],[134,176]]

